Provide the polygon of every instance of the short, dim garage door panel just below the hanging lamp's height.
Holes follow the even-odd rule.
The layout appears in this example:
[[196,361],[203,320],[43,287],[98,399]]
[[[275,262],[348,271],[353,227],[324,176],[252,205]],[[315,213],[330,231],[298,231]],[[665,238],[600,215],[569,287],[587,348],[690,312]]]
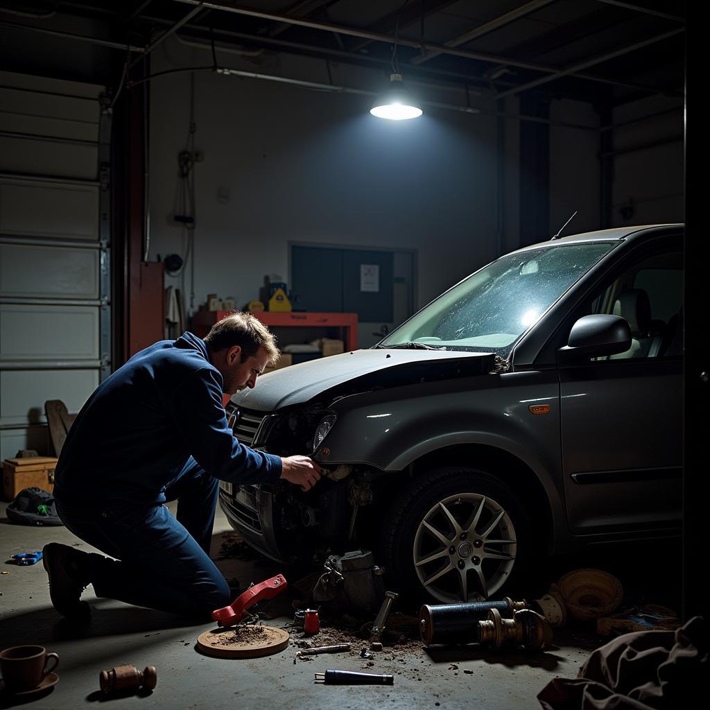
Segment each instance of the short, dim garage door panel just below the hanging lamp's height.
[[0,136],[0,171],[3,173],[96,180],[98,163],[99,148],[92,144]]

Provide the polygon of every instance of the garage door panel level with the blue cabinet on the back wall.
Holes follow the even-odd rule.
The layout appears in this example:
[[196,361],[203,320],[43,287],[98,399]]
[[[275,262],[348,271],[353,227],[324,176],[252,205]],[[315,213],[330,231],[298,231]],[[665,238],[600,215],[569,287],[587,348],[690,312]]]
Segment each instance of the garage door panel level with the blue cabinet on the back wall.
[[0,297],[98,298],[99,251],[0,244]]

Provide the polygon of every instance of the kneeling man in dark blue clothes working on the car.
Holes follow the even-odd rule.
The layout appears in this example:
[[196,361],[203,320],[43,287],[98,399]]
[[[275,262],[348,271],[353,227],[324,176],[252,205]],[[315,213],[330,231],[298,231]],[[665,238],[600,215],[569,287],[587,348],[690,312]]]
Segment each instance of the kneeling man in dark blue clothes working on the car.
[[[239,443],[222,393],[252,388],[278,359],[268,329],[234,313],[200,339],[186,332],[134,355],[91,395],[67,436],[55,473],[62,522],[110,555],[56,542],[43,562],[55,609],[86,618],[81,594],[190,616],[233,601],[209,559],[219,481],[309,490],[321,469],[310,458],[281,458]],[[178,501],[173,517],[166,501]]]

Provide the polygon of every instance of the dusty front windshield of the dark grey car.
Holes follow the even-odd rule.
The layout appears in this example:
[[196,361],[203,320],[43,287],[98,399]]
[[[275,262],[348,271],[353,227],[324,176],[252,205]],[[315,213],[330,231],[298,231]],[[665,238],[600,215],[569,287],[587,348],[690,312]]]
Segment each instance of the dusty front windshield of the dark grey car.
[[557,244],[511,253],[484,266],[425,306],[378,346],[494,352],[515,341],[614,242]]

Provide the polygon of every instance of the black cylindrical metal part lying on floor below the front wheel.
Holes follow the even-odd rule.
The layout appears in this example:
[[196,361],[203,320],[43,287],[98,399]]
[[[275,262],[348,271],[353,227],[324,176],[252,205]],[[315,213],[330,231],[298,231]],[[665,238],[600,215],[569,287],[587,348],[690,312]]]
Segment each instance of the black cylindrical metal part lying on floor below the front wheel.
[[471,643],[478,640],[479,621],[498,609],[503,618],[528,608],[528,602],[513,601],[504,596],[500,601],[472,601],[460,604],[425,604],[419,613],[419,633],[425,645],[432,643]]

